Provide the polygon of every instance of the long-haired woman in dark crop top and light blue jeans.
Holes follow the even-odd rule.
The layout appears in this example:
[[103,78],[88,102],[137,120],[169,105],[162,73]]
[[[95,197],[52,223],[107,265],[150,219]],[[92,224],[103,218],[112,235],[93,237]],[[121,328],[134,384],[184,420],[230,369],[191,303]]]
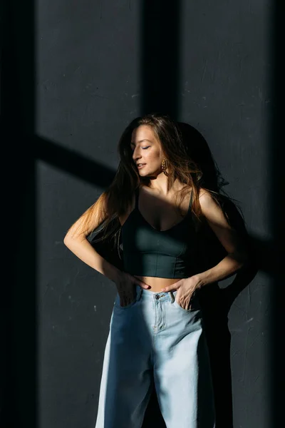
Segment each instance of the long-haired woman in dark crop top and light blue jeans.
[[[199,290],[247,260],[237,233],[169,116],[135,118],[123,132],[113,183],[66,233],[83,262],[115,282],[95,428],[142,426],[152,384],[167,428],[214,428],[212,376]],[[123,243],[123,270],[90,245],[98,226]],[[207,222],[227,256],[202,271],[197,240]],[[108,234],[103,236],[107,238]]]

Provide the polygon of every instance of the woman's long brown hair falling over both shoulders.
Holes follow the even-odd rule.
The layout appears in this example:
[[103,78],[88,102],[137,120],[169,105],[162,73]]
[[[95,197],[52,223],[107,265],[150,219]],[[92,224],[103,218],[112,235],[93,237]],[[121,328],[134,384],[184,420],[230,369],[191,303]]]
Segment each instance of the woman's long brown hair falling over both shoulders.
[[[98,228],[95,230],[98,232],[103,230],[103,234],[99,238],[93,239],[94,243],[110,238],[111,235],[114,238],[115,236],[118,237],[121,227],[118,218],[126,213],[130,207],[134,191],[140,185],[150,186],[150,178],[140,177],[130,147],[133,130],[141,125],[150,126],[160,141],[162,154],[167,160],[168,189],[172,188],[176,179],[184,184],[175,196],[175,209],[181,213],[180,204],[185,195],[192,189],[192,213],[198,221],[201,221],[199,188],[201,188],[202,171],[187,153],[178,124],[167,114],[150,113],[133,119],[125,128],[118,142],[120,163],[113,182],[79,218],[76,233],[83,233],[84,235],[92,233],[94,220],[98,224]],[[209,192],[213,196],[216,193],[213,190],[209,190]],[[177,198],[179,198],[178,202]],[[217,198],[215,199],[217,200]]]

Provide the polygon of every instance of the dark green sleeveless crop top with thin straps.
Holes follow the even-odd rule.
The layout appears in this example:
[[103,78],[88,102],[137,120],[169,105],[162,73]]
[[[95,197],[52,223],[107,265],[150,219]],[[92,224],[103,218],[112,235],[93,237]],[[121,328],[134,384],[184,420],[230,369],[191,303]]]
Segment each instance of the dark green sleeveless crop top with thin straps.
[[192,218],[192,193],[187,215],[167,230],[153,228],[135,208],[122,226],[123,267],[131,275],[184,278],[197,273],[197,235]]

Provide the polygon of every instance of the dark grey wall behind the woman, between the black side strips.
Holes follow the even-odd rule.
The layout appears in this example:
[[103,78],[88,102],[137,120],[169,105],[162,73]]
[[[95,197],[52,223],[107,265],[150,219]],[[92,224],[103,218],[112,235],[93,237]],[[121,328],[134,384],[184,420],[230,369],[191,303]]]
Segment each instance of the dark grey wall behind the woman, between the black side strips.
[[[270,2],[171,3],[36,2],[41,428],[95,423],[115,286],[78,260],[63,237],[110,182],[118,138],[133,118],[162,110],[195,126],[229,183],[225,190],[239,201],[249,234],[257,243],[270,238]],[[259,270],[229,311],[234,428],[272,427],[270,273]]]

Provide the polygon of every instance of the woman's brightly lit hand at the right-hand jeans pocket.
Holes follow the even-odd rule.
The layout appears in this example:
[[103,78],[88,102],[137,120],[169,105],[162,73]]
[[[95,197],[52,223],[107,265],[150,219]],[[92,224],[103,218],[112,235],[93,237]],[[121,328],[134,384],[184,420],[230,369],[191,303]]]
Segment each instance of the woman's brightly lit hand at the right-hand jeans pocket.
[[172,285],[167,285],[167,287],[162,288],[161,291],[175,291],[177,290],[175,300],[178,305],[183,307],[183,309],[191,309],[190,300],[192,299],[194,292],[200,288],[199,280],[195,275],[188,278],[182,278],[175,282]]

